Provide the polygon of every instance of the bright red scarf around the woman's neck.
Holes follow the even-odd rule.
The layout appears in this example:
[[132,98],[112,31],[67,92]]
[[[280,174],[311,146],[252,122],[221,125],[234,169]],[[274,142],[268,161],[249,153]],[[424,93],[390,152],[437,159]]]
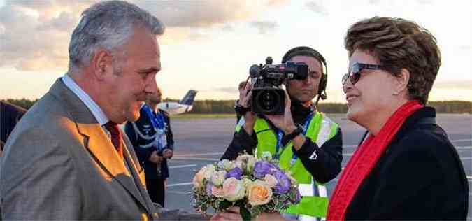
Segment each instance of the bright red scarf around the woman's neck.
[[327,220],[344,220],[352,198],[366,176],[371,173],[380,155],[385,151],[403,122],[422,108],[418,101],[408,101],[389,117],[376,136],[369,136],[352,155],[336,185],[329,202]]

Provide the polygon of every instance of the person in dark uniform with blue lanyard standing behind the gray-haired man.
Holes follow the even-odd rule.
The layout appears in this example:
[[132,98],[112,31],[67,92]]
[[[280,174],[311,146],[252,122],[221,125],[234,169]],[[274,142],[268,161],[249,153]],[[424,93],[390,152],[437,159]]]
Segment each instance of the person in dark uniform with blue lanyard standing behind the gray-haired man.
[[169,115],[157,104],[162,101],[159,87],[155,94],[149,94],[141,106],[140,117],[124,126],[139,162],[144,168],[146,188],[155,203],[164,206],[165,189],[169,178],[167,159],[173,155],[173,135]]

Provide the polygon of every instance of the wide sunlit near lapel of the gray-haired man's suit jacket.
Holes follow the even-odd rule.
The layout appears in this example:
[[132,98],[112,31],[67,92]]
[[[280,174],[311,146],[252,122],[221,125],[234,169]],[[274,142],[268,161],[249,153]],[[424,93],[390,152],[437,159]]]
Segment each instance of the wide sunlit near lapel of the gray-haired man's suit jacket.
[[[124,152],[127,153],[124,158],[128,162],[129,169],[134,170],[132,173],[129,173],[111,143],[110,138],[105,134],[105,131],[103,131],[101,125],[96,121],[94,115],[92,115],[87,106],[83,104],[83,101],[62,83],[60,78],[52,85],[50,93],[55,95],[58,99],[64,100],[66,106],[69,106],[69,112],[73,118],[73,122],[77,124],[78,133],[84,137],[84,146],[89,150],[90,154],[93,155],[96,162],[149,212],[149,206],[145,203],[143,195],[138,190],[140,188],[138,187],[139,184],[134,181],[136,179],[134,179],[133,176],[138,176],[136,172],[137,168],[134,162],[130,160],[131,158],[129,157],[127,148],[124,148],[124,150],[126,150]],[[126,143],[123,145],[126,146]]]

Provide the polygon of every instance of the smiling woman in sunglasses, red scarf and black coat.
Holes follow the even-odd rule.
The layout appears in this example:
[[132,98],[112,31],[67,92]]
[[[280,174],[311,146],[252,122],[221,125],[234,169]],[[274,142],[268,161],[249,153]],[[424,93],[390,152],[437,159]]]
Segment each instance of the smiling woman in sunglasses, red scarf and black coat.
[[372,17],[348,29],[343,78],[348,119],[368,133],[336,185],[328,220],[465,220],[464,168],[434,108],[424,106],[441,66],[429,31]]

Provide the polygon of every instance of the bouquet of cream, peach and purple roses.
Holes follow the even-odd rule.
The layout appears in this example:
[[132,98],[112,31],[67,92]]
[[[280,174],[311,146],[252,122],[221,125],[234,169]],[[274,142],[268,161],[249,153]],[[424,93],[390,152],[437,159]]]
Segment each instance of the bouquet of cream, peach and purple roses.
[[196,173],[193,184],[196,211],[206,213],[211,206],[221,212],[236,206],[243,220],[280,212],[300,201],[298,183],[278,167],[270,152],[264,152],[260,160],[245,154],[235,161],[208,164]]

